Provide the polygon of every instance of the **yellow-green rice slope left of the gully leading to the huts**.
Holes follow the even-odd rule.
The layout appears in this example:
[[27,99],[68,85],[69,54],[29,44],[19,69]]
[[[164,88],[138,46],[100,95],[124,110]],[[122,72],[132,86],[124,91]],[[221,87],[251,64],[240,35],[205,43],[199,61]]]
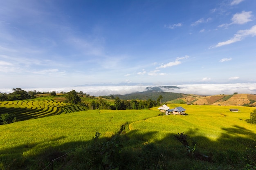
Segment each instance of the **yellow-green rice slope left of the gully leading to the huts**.
[[90,141],[96,131],[104,137],[122,124],[158,115],[157,110],[89,110],[20,121],[0,126],[0,157],[33,157],[49,147],[72,150]]

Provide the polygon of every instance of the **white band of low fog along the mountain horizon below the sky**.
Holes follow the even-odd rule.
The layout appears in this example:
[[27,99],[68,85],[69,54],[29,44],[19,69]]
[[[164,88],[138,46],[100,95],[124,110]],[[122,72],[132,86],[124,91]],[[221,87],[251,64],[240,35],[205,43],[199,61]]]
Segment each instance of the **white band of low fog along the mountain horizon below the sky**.
[[[177,88],[166,88],[164,86],[176,86]],[[70,86],[60,88],[22,88],[26,91],[40,91],[40,92],[69,92],[75,90],[77,92],[83,91],[94,96],[100,95],[125,95],[134,92],[142,92],[147,90],[161,89],[165,92],[173,93],[185,93],[185,94],[197,94],[197,95],[219,95],[219,94],[233,94],[247,93],[256,94],[256,83],[236,83],[236,84],[183,84],[183,85],[164,85],[164,86],[153,86],[153,85],[84,85],[84,86]],[[150,88],[148,88],[150,87]],[[13,87],[17,88],[17,87]],[[0,88],[1,93],[12,93],[12,88]]]

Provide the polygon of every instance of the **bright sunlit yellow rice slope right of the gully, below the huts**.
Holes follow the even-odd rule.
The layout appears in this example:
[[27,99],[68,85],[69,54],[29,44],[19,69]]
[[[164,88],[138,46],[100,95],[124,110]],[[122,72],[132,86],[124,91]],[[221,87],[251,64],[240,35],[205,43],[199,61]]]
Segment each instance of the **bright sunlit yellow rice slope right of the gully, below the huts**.
[[[168,104],[170,108],[182,106],[186,108],[188,116],[170,115],[164,117],[153,117],[145,121],[139,121],[130,124],[131,130],[154,131],[155,137],[150,139],[152,142],[165,141],[164,138],[168,134],[177,132],[185,132],[191,137],[205,137],[212,142],[209,146],[207,140],[202,142],[201,147],[214,149],[219,144],[221,137],[230,130],[236,130],[233,135],[252,139],[255,135],[239,134],[240,131],[249,131],[256,133],[255,125],[247,124],[245,119],[249,118],[249,113],[254,108],[236,107],[240,112],[230,112],[230,106],[198,106],[198,105],[182,105]],[[249,133],[250,134],[250,133]],[[254,140],[254,139],[252,139]],[[220,145],[219,149],[224,149],[225,143]]]

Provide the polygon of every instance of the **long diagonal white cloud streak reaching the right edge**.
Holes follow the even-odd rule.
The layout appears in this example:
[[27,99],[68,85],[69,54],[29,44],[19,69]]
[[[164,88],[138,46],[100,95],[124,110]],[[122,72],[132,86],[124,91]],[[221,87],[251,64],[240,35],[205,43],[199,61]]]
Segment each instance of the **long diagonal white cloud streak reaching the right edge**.
[[232,44],[234,42],[238,42],[243,40],[243,38],[247,37],[247,36],[252,36],[254,37],[256,35],[256,25],[252,26],[251,29],[246,29],[246,30],[239,30],[234,36],[233,38],[224,41],[224,42],[219,42],[216,46],[211,46],[211,48],[216,48],[216,47],[220,47],[220,46],[224,46],[224,45],[228,45],[228,44]]

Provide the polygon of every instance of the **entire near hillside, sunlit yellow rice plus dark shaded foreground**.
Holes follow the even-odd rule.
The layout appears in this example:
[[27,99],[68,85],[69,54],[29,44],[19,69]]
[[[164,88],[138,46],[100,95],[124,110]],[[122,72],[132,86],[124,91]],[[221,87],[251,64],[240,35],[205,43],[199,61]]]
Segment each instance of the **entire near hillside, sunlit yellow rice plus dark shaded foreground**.
[[[181,106],[187,116],[159,115],[157,107],[88,110],[1,125],[0,168],[240,170],[256,164],[255,125],[245,121],[254,108]],[[175,139],[178,132],[188,135],[193,154]]]

